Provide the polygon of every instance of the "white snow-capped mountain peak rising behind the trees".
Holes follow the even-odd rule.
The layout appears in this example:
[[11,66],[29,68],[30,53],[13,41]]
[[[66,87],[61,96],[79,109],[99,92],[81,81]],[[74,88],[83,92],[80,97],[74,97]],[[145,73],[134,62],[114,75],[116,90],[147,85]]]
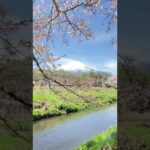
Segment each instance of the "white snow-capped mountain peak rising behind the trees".
[[71,61],[64,65],[61,65],[59,68],[57,68],[57,70],[64,70],[70,72],[89,72],[92,69],[79,61]]

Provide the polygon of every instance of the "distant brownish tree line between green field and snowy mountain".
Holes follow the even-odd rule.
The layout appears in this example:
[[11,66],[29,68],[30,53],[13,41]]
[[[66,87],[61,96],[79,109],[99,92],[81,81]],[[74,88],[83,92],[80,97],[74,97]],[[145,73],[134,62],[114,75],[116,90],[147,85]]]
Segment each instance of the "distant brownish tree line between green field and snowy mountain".
[[[44,72],[48,72],[44,70]],[[68,72],[68,71],[51,71],[47,73],[48,76],[57,80],[59,83],[70,87],[114,87],[116,88],[117,80],[116,77],[107,72]],[[112,79],[111,79],[112,78]],[[38,69],[33,70],[33,81],[34,85],[44,86],[48,84],[44,80],[41,72]],[[50,81],[51,86],[57,86],[54,82]]]

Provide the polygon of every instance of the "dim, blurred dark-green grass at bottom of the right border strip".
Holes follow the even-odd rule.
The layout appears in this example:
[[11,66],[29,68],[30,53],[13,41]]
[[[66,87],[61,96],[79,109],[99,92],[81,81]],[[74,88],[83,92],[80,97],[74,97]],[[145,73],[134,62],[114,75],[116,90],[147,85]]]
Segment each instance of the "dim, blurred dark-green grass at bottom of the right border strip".
[[[132,116],[132,114],[130,114]],[[141,114],[142,116],[142,114]],[[130,117],[130,119],[119,121],[119,145],[120,149],[150,149],[150,123],[149,113]]]

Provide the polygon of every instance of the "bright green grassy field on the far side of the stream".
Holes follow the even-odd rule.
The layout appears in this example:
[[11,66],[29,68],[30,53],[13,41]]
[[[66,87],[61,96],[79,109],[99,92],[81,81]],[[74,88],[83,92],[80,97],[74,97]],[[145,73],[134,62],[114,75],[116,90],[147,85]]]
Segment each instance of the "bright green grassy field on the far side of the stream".
[[33,119],[38,120],[45,117],[53,117],[71,112],[94,108],[95,105],[102,106],[113,103],[117,100],[117,91],[112,88],[107,89],[86,89],[76,90],[76,92],[89,102],[79,98],[71,92],[59,89],[57,93],[50,92],[49,89],[33,90]]

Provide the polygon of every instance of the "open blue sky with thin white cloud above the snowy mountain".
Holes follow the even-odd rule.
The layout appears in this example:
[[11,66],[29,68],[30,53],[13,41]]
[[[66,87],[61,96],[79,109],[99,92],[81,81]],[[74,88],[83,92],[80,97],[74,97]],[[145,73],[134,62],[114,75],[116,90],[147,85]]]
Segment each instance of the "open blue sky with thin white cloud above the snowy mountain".
[[75,39],[69,39],[68,45],[59,41],[55,42],[53,46],[54,55],[66,55],[60,61],[62,65],[71,61],[79,61],[98,71],[117,73],[117,48],[110,45],[116,32],[112,30],[106,33],[106,26],[102,25],[102,20],[101,15],[92,18],[91,27],[95,39],[84,40],[80,43]]

